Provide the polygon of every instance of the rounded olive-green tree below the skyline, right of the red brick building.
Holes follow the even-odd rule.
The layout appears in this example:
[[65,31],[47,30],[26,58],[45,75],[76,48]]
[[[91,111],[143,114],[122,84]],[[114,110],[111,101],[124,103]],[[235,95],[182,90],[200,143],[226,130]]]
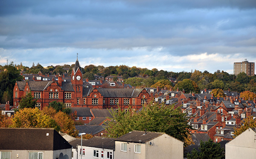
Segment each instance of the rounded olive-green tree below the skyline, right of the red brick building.
[[179,90],[185,90],[185,93],[199,93],[199,88],[194,81],[190,79],[183,79],[175,85],[175,89],[179,88]]

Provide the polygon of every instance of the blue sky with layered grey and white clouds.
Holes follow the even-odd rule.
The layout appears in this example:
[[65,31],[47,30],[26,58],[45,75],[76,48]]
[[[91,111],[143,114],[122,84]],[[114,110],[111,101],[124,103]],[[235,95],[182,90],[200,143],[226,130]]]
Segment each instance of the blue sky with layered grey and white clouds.
[[256,0],[0,0],[0,65],[191,72],[256,62]]

